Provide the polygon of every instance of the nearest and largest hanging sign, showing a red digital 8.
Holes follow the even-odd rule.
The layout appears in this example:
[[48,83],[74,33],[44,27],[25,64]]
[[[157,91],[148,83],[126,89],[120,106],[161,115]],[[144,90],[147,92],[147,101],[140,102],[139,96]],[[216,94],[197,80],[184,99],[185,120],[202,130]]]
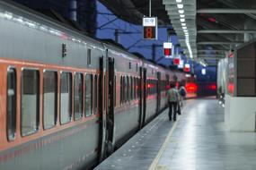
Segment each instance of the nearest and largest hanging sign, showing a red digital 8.
[[156,17],[143,18],[143,38],[157,39],[157,18]]

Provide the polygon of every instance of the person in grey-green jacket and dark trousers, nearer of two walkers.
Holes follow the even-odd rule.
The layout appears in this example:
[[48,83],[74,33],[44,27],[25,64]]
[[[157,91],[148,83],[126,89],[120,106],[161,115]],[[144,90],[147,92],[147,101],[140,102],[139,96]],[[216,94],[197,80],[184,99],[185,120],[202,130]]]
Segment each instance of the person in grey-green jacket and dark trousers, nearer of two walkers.
[[167,99],[169,104],[169,120],[172,121],[172,111],[173,111],[173,121],[176,121],[177,105],[178,105],[178,91],[175,89],[175,85],[171,83],[171,89],[167,91]]

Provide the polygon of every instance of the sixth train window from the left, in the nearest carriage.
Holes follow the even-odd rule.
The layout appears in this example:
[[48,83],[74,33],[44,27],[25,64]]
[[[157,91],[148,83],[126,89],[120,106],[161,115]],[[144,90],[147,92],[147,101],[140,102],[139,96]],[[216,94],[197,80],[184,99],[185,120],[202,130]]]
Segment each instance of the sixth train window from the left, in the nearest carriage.
[[93,112],[93,75],[86,74],[85,76],[85,94],[84,94],[84,107],[85,116],[92,115]]

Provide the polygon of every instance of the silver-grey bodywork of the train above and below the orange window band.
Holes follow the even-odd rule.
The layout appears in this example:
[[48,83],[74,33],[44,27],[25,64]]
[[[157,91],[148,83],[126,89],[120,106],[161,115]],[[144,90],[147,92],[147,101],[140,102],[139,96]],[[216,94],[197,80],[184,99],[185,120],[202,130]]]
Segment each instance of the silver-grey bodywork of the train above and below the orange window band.
[[[179,80],[182,79],[180,72],[167,71],[119,47],[86,37],[61,23],[56,23],[16,4],[0,1],[0,28],[1,58],[19,60],[24,63],[34,62],[41,65],[52,64],[68,68],[99,70],[100,58],[103,57],[106,60],[107,57],[111,57],[115,60],[116,75],[133,75],[139,78],[139,69],[143,67],[147,69],[146,78],[148,79],[157,80],[157,72],[161,72],[160,80],[162,81],[166,81],[166,75],[170,77],[169,81],[173,81],[174,74],[177,74]],[[63,45],[66,46],[64,57]],[[91,64],[87,63],[88,49],[91,49]],[[103,68],[107,68],[105,63]],[[117,84],[117,91],[119,90],[120,87]],[[157,115],[156,98],[156,95],[146,98],[146,123]],[[164,91],[161,92],[160,103],[159,110],[163,110],[166,106]],[[115,112],[115,142],[122,143],[123,139],[139,130],[141,116],[139,101],[134,100],[120,106],[119,111],[115,110]],[[99,158],[99,122],[101,120],[97,118],[17,145],[12,149],[2,150],[0,151],[0,169],[44,170],[90,167],[98,162]],[[9,155],[12,157],[5,157]]]

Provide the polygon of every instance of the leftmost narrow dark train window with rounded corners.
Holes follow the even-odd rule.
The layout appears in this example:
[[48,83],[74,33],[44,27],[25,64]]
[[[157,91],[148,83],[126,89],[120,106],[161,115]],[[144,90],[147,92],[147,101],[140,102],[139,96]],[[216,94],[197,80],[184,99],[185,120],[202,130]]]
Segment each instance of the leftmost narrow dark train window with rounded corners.
[[11,68],[7,73],[7,138],[16,137],[16,70]]

